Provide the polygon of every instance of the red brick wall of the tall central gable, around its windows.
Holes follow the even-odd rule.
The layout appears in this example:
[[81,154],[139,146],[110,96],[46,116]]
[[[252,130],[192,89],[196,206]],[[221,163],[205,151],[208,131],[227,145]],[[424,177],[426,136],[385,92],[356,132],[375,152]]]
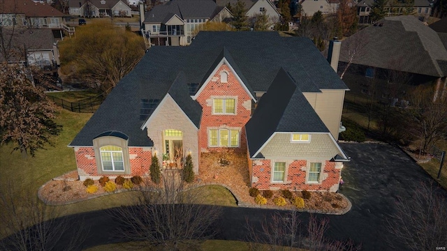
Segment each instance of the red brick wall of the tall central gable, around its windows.
[[[228,73],[228,83],[220,82],[222,70],[226,70]],[[251,109],[243,107],[242,104],[247,100],[250,100],[251,103],[251,98],[240,82],[237,81],[230,68],[225,64],[217,70],[213,77],[217,81],[213,82],[210,80],[197,98],[197,101],[203,107],[202,121],[200,122],[200,130],[198,132],[200,151],[220,151],[222,149],[219,147],[208,147],[207,128],[225,125],[229,128],[240,128],[240,147],[235,150],[237,152],[245,152],[247,151],[247,140],[244,126],[250,119]],[[237,96],[236,115],[212,115],[212,101],[208,100],[207,102],[210,96]]]

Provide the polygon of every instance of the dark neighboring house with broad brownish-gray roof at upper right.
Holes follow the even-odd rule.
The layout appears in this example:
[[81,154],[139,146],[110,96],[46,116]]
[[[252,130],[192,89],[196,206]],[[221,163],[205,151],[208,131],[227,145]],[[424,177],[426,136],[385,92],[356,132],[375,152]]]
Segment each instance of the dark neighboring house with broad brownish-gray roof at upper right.
[[346,38],[339,60],[339,70],[353,63],[344,77],[353,93],[383,101],[404,98],[419,84],[447,86],[446,47],[439,33],[413,16],[385,17]]

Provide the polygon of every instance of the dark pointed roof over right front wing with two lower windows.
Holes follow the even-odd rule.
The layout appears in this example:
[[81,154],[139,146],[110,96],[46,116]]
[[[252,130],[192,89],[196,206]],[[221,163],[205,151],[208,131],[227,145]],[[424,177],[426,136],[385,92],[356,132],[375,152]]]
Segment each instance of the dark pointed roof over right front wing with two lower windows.
[[245,129],[252,158],[274,132],[329,132],[284,68],[261,98]]

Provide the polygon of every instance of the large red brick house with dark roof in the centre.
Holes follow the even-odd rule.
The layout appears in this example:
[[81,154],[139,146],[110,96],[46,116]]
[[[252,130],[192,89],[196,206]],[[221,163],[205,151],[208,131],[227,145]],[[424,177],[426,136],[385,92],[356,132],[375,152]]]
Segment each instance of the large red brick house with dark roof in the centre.
[[335,192],[346,90],[308,38],[203,31],[150,48],[69,146],[81,180],[149,176],[152,155],[168,168],[179,151],[199,174],[201,153],[234,151],[251,186]]

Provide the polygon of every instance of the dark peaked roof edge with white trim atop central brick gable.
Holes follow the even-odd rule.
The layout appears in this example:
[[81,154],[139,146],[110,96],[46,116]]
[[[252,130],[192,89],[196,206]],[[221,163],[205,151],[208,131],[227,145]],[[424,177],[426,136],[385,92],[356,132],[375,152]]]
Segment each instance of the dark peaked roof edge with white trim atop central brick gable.
[[205,73],[205,76],[203,76],[203,79],[198,86],[198,91],[194,95],[194,99],[196,99],[199,96],[200,92],[205,89],[206,84],[210,82],[211,78],[217,73],[217,70],[219,70],[223,63],[226,63],[228,67],[233,70],[233,74],[236,75],[240,84],[242,84],[242,87],[244,87],[249,96],[251,96],[251,98],[256,101],[256,94],[254,93],[253,89],[251,89],[251,86],[248,84],[247,79],[242,74],[242,71],[237,66],[237,63],[234,61],[233,57],[230,55],[230,52],[228,52],[226,47],[223,47],[223,50],[221,51],[219,56],[217,56],[216,60],[214,60],[214,63],[212,63],[212,65],[208,69],[207,73]]

